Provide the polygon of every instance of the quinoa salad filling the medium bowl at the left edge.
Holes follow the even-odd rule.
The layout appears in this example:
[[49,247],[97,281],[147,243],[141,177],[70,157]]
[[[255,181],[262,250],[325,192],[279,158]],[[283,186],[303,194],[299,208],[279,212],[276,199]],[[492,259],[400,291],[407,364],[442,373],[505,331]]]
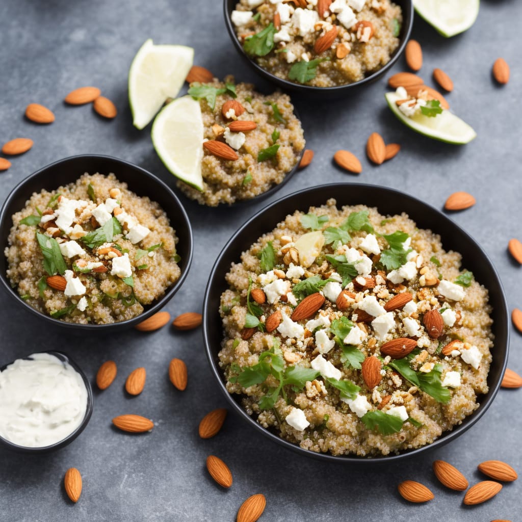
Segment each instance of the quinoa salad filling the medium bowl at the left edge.
[[34,309],[69,323],[141,314],[179,279],[177,238],[160,206],[114,174],[34,193],[13,215],[7,277]]

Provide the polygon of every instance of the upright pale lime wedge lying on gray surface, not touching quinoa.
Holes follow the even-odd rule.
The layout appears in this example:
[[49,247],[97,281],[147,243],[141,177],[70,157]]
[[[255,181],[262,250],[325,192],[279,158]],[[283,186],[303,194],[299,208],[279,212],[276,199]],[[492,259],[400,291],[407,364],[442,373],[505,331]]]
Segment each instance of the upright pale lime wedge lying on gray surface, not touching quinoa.
[[194,49],[185,45],[154,45],[147,40],[129,70],[129,104],[133,124],[143,129],[167,98],[175,98],[192,67]]

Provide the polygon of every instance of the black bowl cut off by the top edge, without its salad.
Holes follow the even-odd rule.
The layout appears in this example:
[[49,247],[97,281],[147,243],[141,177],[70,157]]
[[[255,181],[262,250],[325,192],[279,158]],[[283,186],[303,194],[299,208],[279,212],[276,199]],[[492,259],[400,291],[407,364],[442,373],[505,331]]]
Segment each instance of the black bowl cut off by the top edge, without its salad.
[[232,39],[232,43],[234,44],[236,50],[243,58],[245,62],[250,64],[257,73],[261,76],[264,76],[269,81],[277,84],[282,87],[284,90],[295,91],[299,94],[306,95],[307,97],[314,96],[314,98],[321,98],[324,100],[333,100],[338,99],[342,96],[347,96],[354,91],[360,90],[360,88],[364,88],[365,85],[369,85],[381,76],[383,76],[386,71],[394,65],[394,63],[398,60],[399,56],[404,51],[406,47],[406,43],[410,37],[411,28],[413,26],[413,4],[411,0],[394,0],[394,3],[399,5],[402,9],[402,26],[400,28],[399,39],[400,43],[398,48],[392,54],[390,61],[377,70],[375,73],[372,73],[362,80],[355,81],[352,84],[339,85],[337,87],[314,87],[311,85],[302,85],[302,84],[294,84],[294,82],[285,80],[283,78],[279,78],[278,76],[269,73],[263,67],[260,67],[255,60],[253,60],[250,56],[248,56],[243,46],[241,45],[238,37],[235,34],[234,24],[231,20],[232,11],[236,4],[238,4],[238,0],[224,0],[223,10],[225,17],[225,24],[227,26],[230,38]]

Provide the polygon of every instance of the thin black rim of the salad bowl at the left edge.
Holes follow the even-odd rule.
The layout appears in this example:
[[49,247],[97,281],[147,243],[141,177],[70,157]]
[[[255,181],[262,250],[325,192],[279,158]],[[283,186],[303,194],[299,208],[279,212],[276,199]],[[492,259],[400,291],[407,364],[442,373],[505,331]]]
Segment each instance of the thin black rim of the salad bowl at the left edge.
[[[147,317],[150,317],[151,315],[158,312],[165,304],[167,304],[174,296],[174,294],[180,289],[181,284],[185,280],[185,277],[188,274],[188,271],[192,264],[192,255],[193,255],[193,234],[192,234],[192,226],[188,219],[187,213],[185,211],[185,208],[181,204],[181,201],[179,198],[174,194],[172,189],[163,181],[159,179],[159,177],[155,176],[148,170],[144,169],[143,167],[139,167],[138,165],[131,163],[130,161],[122,160],[120,158],[115,158],[114,156],[107,156],[103,154],[79,154],[76,156],[68,156],[67,158],[63,158],[61,160],[54,161],[53,163],[50,163],[49,165],[45,165],[45,167],[42,167],[41,169],[38,169],[37,171],[33,172],[29,176],[27,176],[25,179],[23,179],[20,183],[18,183],[9,193],[6,200],[4,201],[4,204],[2,205],[2,209],[0,210],[0,230],[3,229],[4,226],[7,226],[7,221],[11,219],[11,216],[7,216],[7,208],[11,203],[11,200],[13,200],[20,191],[23,191],[24,188],[26,188],[27,185],[29,185],[35,178],[38,178],[39,176],[42,176],[47,170],[55,168],[57,165],[60,165],[61,163],[67,163],[72,161],[78,161],[82,158],[97,158],[102,161],[108,161],[115,164],[125,165],[126,167],[130,167],[132,169],[136,169],[141,174],[147,176],[152,182],[157,183],[160,188],[167,192],[169,196],[172,198],[174,204],[177,206],[176,211],[179,212],[180,215],[180,222],[183,225],[183,227],[187,231],[188,235],[188,258],[186,259],[186,268],[185,270],[182,270],[180,278],[174,282],[174,284],[165,291],[165,294],[162,296],[161,299],[158,300],[157,303],[153,304],[148,310],[143,312],[140,315],[137,315],[136,317],[133,317],[131,319],[126,319],[126,321],[119,321],[117,323],[108,323],[108,324],[78,324],[78,323],[68,323],[65,321],[60,321],[60,319],[55,319],[54,317],[51,317],[49,315],[45,315],[42,312],[39,312],[38,310],[34,309],[32,306],[27,304],[25,301],[23,301],[20,296],[15,292],[13,288],[11,288],[11,285],[9,284],[9,281],[7,280],[7,276],[2,272],[0,273],[0,281],[2,281],[2,285],[4,289],[7,291],[7,293],[11,296],[13,296],[14,299],[21,305],[25,306],[27,310],[29,310],[32,314],[45,319],[46,321],[50,321],[51,323],[66,327],[66,328],[76,328],[76,329],[85,329],[85,330],[97,330],[100,331],[102,329],[107,329],[111,327],[130,327],[135,324],[141,323],[142,321],[145,321]],[[30,194],[27,196],[29,199]],[[10,228],[10,227],[9,227]],[[179,226],[177,227],[179,228]],[[2,246],[2,249],[5,245]],[[3,252],[0,253],[1,255],[4,255]]]

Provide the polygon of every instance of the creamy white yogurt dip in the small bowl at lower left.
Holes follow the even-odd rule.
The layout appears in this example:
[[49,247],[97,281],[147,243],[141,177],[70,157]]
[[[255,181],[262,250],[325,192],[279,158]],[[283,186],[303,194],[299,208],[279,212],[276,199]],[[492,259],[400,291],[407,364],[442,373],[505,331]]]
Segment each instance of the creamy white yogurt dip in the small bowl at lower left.
[[81,375],[50,353],[17,359],[0,372],[0,435],[26,447],[55,444],[84,420]]

